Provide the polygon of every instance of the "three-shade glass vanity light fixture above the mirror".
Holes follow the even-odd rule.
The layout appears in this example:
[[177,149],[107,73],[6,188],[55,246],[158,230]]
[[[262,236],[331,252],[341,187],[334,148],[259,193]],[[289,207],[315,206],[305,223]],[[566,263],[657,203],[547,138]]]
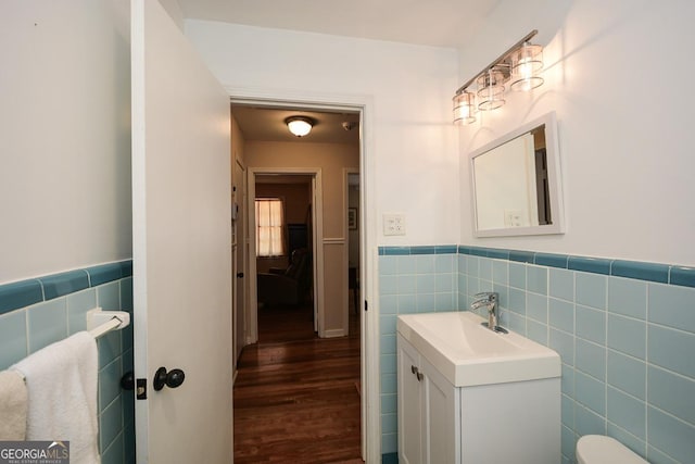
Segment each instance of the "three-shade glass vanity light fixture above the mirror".
[[538,75],[543,68],[543,47],[530,42],[538,33],[533,29],[456,90],[453,99],[455,124],[470,124],[476,121],[478,111],[502,106],[507,84],[511,90],[521,91],[543,84]]

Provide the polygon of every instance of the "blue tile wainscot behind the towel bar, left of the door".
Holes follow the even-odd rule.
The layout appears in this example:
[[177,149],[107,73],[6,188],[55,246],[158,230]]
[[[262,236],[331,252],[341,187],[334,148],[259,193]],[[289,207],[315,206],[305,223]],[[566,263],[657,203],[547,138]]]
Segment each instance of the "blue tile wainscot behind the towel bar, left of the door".
[[[28,354],[87,329],[87,311],[132,314],[132,262],[0,285],[0,369]],[[122,391],[132,369],[132,326],[112,331],[99,346],[99,449],[103,464],[135,463],[135,404]]]

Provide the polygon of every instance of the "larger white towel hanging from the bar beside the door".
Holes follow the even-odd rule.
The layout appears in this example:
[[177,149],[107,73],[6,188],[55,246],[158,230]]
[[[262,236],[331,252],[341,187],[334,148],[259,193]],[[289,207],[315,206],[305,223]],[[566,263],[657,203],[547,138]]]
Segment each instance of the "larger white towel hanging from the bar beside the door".
[[97,358],[97,341],[80,331],[13,366],[28,391],[26,439],[68,440],[74,464],[100,462]]

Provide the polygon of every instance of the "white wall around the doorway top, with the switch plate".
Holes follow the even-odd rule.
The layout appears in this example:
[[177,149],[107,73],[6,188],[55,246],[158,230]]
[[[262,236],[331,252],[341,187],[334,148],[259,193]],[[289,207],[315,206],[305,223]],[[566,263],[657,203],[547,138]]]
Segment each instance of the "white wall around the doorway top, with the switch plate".
[[[453,49],[187,21],[186,34],[229,88],[311,89],[366,97],[374,104],[374,186],[379,244],[456,243],[459,189],[451,99]],[[374,190],[370,190],[374,188]],[[382,213],[406,215],[407,235],[383,237]]]

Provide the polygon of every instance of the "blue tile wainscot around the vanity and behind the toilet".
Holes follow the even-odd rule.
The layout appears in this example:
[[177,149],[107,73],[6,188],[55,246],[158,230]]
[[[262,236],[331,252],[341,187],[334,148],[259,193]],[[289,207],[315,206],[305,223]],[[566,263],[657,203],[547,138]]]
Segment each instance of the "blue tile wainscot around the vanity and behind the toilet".
[[379,248],[383,462],[397,461],[397,315],[466,311],[490,290],[501,325],[563,359],[563,463],[587,434],[692,462],[694,267],[465,246]]

